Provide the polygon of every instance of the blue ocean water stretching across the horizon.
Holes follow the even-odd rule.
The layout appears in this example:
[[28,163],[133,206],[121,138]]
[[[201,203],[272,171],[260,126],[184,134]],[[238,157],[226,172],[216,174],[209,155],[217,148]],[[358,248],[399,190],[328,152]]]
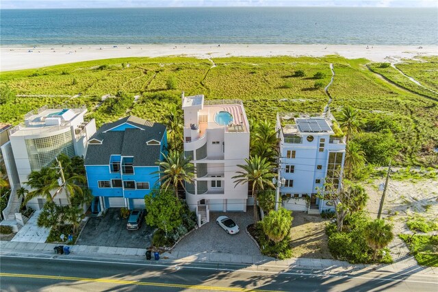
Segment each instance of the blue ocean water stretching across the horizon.
[[0,45],[437,45],[436,8],[1,10]]

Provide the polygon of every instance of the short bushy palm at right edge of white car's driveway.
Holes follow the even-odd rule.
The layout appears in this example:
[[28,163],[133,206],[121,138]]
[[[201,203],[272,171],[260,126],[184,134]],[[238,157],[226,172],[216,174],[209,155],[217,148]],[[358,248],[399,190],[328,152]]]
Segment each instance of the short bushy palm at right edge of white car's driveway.
[[270,240],[278,243],[289,234],[293,219],[291,213],[285,208],[279,208],[278,211],[271,211],[263,218],[261,226]]

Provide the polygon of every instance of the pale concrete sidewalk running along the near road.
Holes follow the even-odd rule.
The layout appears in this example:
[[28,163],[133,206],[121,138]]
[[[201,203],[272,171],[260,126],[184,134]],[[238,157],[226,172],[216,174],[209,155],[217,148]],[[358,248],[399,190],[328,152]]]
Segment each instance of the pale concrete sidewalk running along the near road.
[[[53,248],[59,244],[55,243],[26,243],[16,241],[0,241],[0,256],[31,252],[42,256],[53,255]],[[64,245],[65,246],[65,245]],[[146,249],[127,248],[127,247],[105,247],[105,246],[88,246],[88,245],[70,245],[70,254],[73,256],[99,256],[101,259],[114,259],[114,256],[121,256],[125,260],[139,260],[144,258],[145,262],[155,260],[146,260]],[[70,255],[57,254],[68,258]],[[237,254],[225,254],[218,252],[202,252],[199,254],[189,254],[188,252],[165,252],[160,254],[162,263],[168,264],[188,264],[188,263],[229,263],[239,265],[270,265],[279,269],[313,269],[313,270],[342,270],[344,272],[357,271],[383,271],[385,273],[426,273],[438,277],[437,267],[421,267],[411,265],[411,259],[400,260],[398,263],[391,265],[352,265],[341,260],[326,260],[319,258],[289,258],[287,260],[276,260],[269,256],[242,256]]]

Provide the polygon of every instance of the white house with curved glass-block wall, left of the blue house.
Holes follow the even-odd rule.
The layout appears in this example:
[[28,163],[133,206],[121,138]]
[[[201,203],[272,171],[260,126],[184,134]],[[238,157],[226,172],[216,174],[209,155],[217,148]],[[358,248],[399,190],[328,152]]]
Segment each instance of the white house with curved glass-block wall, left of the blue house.
[[[60,154],[85,156],[88,138],[96,132],[94,119],[83,121],[87,108],[49,109],[47,106],[25,114],[25,122],[10,130],[10,141],[1,146],[11,185],[25,184],[31,171],[47,167]],[[13,173],[16,173],[15,175]],[[58,195],[59,204],[66,203]],[[44,198],[29,201],[27,206],[39,210]]]

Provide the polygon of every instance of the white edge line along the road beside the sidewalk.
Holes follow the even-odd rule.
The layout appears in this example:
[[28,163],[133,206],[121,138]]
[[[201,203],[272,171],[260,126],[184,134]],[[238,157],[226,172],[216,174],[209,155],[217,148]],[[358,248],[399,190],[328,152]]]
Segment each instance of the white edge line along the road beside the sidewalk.
[[[10,258],[26,258],[29,259],[28,256],[3,256],[3,257],[10,257]],[[169,264],[169,265],[163,265],[163,264],[152,264],[152,263],[123,263],[123,262],[116,262],[116,261],[107,261],[107,260],[82,260],[82,259],[75,259],[75,258],[42,258],[42,257],[32,257],[36,259],[42,259],[42,260],[64,260],[64,261],[73,261],[73,262],[84,262],[84,263],[103,263],[103,264],[116,264],[116,265],[136,265],[136,266],[142,266],[142,267],[175,267],[175,264]],[[207,263],[209,264],[209,263]],[[223,263],[227,264],[227,263]],[[352,276],[349,275],[332,275],[329,273],[300,273],[300,272],[290,272],[290,271],[261,271],[259,269],[250,269],[250,267],[242,267],[242,269],[231,269],[231,268],[220,268],[220,267],[198,267],[198,266],[185,266],[185,265],[178,265],[178,267],[181,267],[181,269],[204,269],[209,271],[241,271],[246,273],[269,273],[269,274],[283,274],[283,275],[292,275],[292,276],[311,276],[311,277],[319,277],[319,278],[350,278],[350,279],[361,279],[361,280],[372,280],[372,281],[388,281],[388,282],[412,282],[412,283],[424,283],[424,284],[438,284],[438,282],[426,282],[426,281],[420,281],[420,280],[405,280],[405,279],[394,279],[396,276],[408,278],[409,276],[414,277],[426,277],[426,275],[405,275],[396,273],[396,276],[393,276],[392,278],[372,278],[372,277],[365,277],[365,276]],[[260,266],[263,267],[263,266]],[[286,267],[284,267],[286,268]],[[377,271],[370,271],[370,273],[377,273]],[[379,273],[380,274],[380,273]],[[385,275],[386,276],[386,275]],[[388,275],[389,276],[389,275]],[[433,278],[436,278],[436,276],[430,276]]]

